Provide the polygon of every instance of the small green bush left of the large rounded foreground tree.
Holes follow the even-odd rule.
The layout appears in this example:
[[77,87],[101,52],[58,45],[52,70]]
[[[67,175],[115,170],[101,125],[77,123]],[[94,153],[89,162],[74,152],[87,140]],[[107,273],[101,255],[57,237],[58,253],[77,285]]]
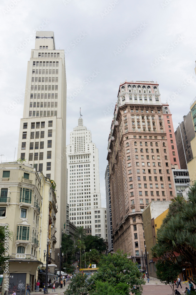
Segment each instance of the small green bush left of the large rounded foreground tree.
[[90,289],[86,274],[78,273],[73,276],[71,283],[67,290],[64,292],[65,295],[87,295]]

